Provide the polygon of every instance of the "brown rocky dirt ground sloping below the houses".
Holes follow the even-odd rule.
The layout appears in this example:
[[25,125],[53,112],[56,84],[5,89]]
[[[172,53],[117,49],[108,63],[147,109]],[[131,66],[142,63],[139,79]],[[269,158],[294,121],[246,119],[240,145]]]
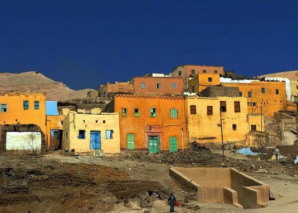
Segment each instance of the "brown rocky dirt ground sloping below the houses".
[[[195,147],[184,152],[126,151],[109,157],[0,156],[0,212],[2,213],[163,213],[169,211],[169,187],[180,205],[176,212],[287,212],[298,211],[296,146],[281,146],[287,156],[270,160],[275,149],[259,148],[260,156],[243,156]],[[168,174],[171,166],[234,167],[270,185],[275,201],[267,207],[240,210],[222,203],[195,201],[194,194],[177,187]]]

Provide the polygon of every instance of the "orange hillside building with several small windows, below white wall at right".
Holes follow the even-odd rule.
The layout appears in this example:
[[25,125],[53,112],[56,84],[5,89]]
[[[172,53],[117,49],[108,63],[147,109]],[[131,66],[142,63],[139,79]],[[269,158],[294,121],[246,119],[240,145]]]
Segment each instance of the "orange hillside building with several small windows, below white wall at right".
[[274,112],[287,110],[285,82],[252,81],[251,83],[224,83],[223,86],[239,87],[239,96],[247,98],[248,113],[273,116]]

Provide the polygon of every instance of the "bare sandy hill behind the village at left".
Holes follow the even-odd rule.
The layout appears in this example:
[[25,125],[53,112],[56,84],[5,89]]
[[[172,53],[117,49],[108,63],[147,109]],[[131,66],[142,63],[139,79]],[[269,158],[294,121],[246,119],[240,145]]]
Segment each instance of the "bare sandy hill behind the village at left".
[[47,100],[59,101],[86,97],[90,90],[94,89],[73,90],[35,71],[0,73],[0,92],[45,92]]

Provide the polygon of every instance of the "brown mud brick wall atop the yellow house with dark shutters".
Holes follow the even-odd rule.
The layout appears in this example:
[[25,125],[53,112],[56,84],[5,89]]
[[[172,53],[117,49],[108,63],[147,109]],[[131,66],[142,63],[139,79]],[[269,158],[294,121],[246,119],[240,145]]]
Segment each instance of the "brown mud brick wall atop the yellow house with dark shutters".
[[227,87],[227,86],[208,86],[202,90],[200,97],[238,97],[239,87]]

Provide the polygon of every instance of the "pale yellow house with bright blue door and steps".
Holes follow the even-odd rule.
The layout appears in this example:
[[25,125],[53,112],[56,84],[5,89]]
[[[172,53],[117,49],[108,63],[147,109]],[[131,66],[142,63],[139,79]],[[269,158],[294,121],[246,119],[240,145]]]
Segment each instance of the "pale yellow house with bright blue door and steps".
[[76,152],[92,149],[120,152],[118,113],[79,114],[70,111],[63,122],[62,148]]

